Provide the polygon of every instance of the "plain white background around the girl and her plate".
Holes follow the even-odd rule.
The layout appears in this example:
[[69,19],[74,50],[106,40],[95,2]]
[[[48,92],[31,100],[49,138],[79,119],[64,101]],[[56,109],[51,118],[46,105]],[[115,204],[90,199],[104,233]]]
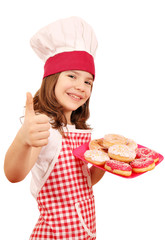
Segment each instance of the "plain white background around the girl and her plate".
[[[43,63],[29,40],[59,18],[80,16],[97,35],[93,138],[119,133],[165,155],[165,6],[160,0],[34,0],[0,3],[0,238],[26,240],[38,218],[29,174],[7,181],[4,156],[20,128],[27,91]],[[106,173],[94,186],[98,240],[165,239],[165,162],[134,179]],[[3,237],[2,237],[3,236]]]

